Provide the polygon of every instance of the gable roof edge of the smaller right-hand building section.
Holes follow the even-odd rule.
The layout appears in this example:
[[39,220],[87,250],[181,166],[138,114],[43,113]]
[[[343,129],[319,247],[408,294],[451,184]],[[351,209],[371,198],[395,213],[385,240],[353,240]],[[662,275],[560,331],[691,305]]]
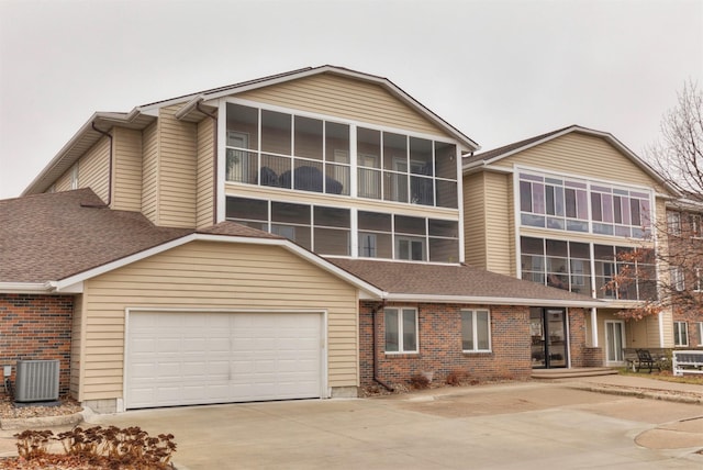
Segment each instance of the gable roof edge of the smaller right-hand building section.
[[599,137],[606,141],[609,144],[615,147],[621,154],[623,154],[626,158],[628,158],[632,163],[634,163],[637,167],[639,167],[643,171],[645,171],[655,181],[659,182],[660,184],[662,184],[665,188],[667,188],[669,191],[673,192],[674,194],[678,193],[678,191],[669,182],[667,182],[661,177],[661,175],[655,171],[655,169],[651,168],[645,160],[639,158],[634,152],[627,148],[625,144],[620,142],[612,134],[607,132],[582,127],[576,124],[559,128],[557,131],[547,132],[545,134],[540,134],[534,137],[525,138],[524,141],[514,142],[512,144],[507,144],[502,147],[494,148],[492,150],[482,152],[480,154],[464,157],[462,159],[464,172],[467,174],[467,172],[470,172],[471,170],[487,167],[491,164],[502,160],[503,158],[507,158],[511,155],[515,155],[520,152],[524,152],[528,148],[536,147],[538,145],[545,144],[549,141],[554,141],[556,138],[562,137],[571,133],[585,134],[585,135]]

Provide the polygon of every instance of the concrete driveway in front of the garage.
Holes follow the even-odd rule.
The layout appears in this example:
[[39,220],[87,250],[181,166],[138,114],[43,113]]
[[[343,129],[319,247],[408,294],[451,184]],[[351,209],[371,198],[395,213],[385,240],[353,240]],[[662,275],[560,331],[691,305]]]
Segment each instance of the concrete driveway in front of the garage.
[[171,433],[178,468],[703,468],[703,406],[559,383],[96,415]]

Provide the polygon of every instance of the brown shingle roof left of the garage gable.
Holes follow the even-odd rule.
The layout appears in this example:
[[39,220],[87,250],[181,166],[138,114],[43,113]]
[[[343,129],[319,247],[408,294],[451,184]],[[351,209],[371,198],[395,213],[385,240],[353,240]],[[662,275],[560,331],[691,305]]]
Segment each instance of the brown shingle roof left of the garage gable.
[[0,201],[0,282],[58,280],[181,237],[90,189]]

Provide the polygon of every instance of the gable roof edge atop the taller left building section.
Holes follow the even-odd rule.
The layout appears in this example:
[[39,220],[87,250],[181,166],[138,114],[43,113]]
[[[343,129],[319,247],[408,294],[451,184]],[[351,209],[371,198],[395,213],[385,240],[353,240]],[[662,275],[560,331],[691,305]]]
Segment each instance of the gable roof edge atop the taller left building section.
[[444,128],[449,135],[453,135],[457,141],[461,142],[467,148],[473,150],[479,148],[479,145],[476,142],[432,112],[388,78],[355,71],[344,67],[324,65],[321,67],[305,67],[254,80],[246,80],[225,87],[212,88],[210,90],[156,101],[136,107],[130,112],[97,112],[90,116],[90,119],[68,141],[68,143],[64,145],[58,154],[56,154],[49,164],[34,178],[34,180],[22,192],[22,195],[36,194],[46,191],[53,181],[66,172],[81,155],[96,145],[96,143],[104,136],[104,133],[109,132],[114,125],[133,130],[144,130],[156,121],[158,110],[160,108],[174,104],[182,104],[182,108],[176,113],[177,119],[189,122],[199,122],[207,116],[208,112],[212,113],[212,111],[214,111],[214,108],[204,104],[208,100],[214,100],[234,93],[242,93],[257,88],[270,87],[272,85],[319,74],[335,74],[379,85],[389,93],[417,111],[425,119],[433,122],[438,127]]

